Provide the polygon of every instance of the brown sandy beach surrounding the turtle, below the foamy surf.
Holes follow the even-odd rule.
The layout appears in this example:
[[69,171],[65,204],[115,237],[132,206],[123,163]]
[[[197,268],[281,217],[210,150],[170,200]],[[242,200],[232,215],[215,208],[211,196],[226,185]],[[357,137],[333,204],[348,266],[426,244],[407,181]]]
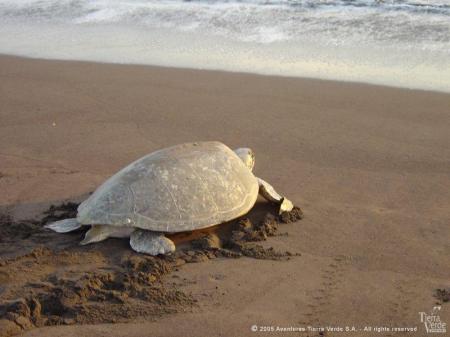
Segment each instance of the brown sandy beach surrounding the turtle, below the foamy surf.
[[[0,298],[4,304],[40,286],[43,304],[57,308],[58,299],[80,296],[58,293],[75,289],[67,286],[72,276],[91,296],[85,309],[110,310],[78,324],[58,321],[51,309],[46,319],[63,325],[29,326],[26,336],[293,334],[254,333],[254,324],[417,327],[324,335],[423,336],[419,312],[436,303],[450,324],[445,296],[434,296],[450,287],[449,94],[7,56],[0,76],[0,213],[16,226],[7,229],[3,218]],[[132,160],[213,139],[253,148],[256,174],[302,207],[303,220],[263,242],[299,256],[216,254],[181,265],[137,256],[126,240],[79,247],[80,232],[41,229],[50,205],[83,200]],[[249,217],[258,223],[267,212],[273,207],[260,200]],[[117,275],[130,278],[127,289],[116,287]],[[123,319],[88,324],[111,315]]]

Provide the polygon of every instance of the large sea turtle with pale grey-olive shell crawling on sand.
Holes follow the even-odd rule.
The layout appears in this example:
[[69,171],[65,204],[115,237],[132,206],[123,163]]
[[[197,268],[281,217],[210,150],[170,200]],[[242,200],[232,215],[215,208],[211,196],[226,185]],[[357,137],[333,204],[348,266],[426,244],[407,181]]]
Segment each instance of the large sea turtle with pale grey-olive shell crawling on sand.
[[279,205],[292,203],[253,175],[249,148],[231,150],[220,142],[175,145],[146,155],[106,180],[78,206],[76,218],[46,225],[58,233],[91,228],[81,244],[130,237],[137,252],[175,251],[164,233],[192,231],[238,218],[255,204],[258,192]]

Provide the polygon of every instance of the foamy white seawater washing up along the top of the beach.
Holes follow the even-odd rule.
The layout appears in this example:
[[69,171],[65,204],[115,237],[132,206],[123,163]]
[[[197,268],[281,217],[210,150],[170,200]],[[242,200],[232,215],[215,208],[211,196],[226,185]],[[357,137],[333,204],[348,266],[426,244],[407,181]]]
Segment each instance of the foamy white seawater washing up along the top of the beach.
[[0,0],[0,53],[450,92],[450,0]]

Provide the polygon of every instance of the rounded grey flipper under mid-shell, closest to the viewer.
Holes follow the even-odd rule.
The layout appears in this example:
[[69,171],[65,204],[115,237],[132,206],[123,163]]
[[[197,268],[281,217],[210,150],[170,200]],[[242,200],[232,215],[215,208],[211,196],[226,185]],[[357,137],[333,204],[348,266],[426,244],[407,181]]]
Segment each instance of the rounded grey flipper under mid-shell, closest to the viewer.
[[130,246],[138,253],[156,256],[175,251],[175,244],[161,232],[136,229],[130,236]]

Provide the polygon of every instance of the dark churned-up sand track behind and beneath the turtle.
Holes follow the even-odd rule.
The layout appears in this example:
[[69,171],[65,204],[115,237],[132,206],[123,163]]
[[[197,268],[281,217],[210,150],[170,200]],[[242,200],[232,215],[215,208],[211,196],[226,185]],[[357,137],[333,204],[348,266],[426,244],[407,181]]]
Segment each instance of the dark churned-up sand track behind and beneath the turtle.
[[280,224],[301,219],[299,208],[281,216],[269,212],[261,221],[222,224],[221,233],[199,231],[187,243],[177,242],[174,254],[153,257],[132,251],[128,240],[80,246],[84,229],[61,235],[43,228],[74,217],[77,206],[51,206],[41,220],[14,221],[0,214],[0,337],[41,326],[157,319],[196,305],[191,294],[166,282],[186,263],[297,255],[258,242],[278,235]]

